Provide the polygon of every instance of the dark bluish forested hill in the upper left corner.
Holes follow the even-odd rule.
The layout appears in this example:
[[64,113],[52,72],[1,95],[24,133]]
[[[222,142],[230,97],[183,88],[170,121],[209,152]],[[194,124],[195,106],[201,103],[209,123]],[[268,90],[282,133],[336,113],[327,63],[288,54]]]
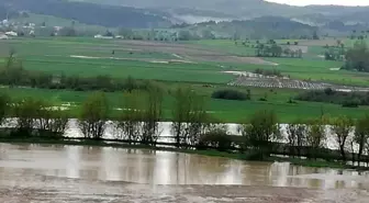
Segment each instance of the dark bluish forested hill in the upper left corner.
[[155,13],[128,7],[101,5],[66,0],[0,0],[0,4],[7,4],[8,9],[12,11],[29,11],[108,27],[142,29],[170,25],[168,18],[164,16],[163,12]]

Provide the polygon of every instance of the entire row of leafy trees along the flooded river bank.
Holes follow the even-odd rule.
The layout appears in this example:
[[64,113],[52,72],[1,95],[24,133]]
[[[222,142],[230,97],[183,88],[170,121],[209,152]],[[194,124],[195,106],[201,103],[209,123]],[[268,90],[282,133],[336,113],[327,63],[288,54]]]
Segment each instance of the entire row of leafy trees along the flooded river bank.
[[[228,135],[227,127],[206,111],[206,101],[190,88],[172,92],[171,134],[177,148],[237,151],[247,159],[264,160],[272,154],[306,157],[326,161],[369,162],[369,115],[357,121],[348,116],[298,120],[282,129],[273,111],[258,111],[238,125],[241,136]],[[161,134],[163,91],[156,86],[146,91],[122,93],[114,109],[103,92],[90,94],[80,104],[78,127],[85,139],[102,140],[108,126],[114,127],[116,140],[131,145],[156,146]],[[74,110],[75,111],[75,110]],[[114,116],[112,117],[112,112]],[[0,121],[14,117],[14,126],[2,128],[1,135],[15,138],[47,137],[63,139],[71,112],[34,98],[11,101],[0,95]],[[112,120],[113,119],[113,120]],[[283,134],[284,133],[284,134]],[[327,149],[328,133],[338,144]],[[284,136],[283,136],[284,135]],[[357,146],[357,149],[356,149]]]

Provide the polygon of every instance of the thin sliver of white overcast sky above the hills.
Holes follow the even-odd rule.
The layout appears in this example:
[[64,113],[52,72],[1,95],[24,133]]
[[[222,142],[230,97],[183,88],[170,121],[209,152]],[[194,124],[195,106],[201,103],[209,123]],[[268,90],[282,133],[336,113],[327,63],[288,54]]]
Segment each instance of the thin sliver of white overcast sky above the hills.
[[369,0],[267,0],[277,3],[293,5],[306,4],[342,4],[342,5],[369,5]]

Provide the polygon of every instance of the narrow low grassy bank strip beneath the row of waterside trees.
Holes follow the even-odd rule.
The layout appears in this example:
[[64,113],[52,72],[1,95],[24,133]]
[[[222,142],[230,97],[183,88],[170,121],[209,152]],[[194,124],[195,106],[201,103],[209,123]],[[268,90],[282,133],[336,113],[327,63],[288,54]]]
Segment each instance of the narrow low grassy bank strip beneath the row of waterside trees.
[[[66,146],[91,146],[91,147],[113,147],[113,148],[126,148],[126,149],[149,149],[159,151],[172,151],[172,153],[183,153],[183,154],[194,154],[209,157],[223,157],[236,160],[251,161],[251,155],[254,151],[246,153],[230,153],[220,151],[215,149],[199,150],[199,149],[186,149],[186,148],[175,148],[174,145],[159,143],[158,146],[149,146],[144,144],[130,145],[128,142],[118,140],[118,139],[85,139],[85,138],[47,138],[47,137],[29,137],[29,138],[11,138],[11,137],[0,137],[0,143],[8,144],[40,144],[40,145],[66,145]],[[314,168],[335,168],[335,169],[355,169],[355,170],[368,170],[365,167],[354,167],[350,165],[344,165],[339,161],[326,161],[326,160],[315,160],[315,159],[300,159],[280,156],[266,157],[262,160],[266,162],[290,162],[295,166],[314,167]]]

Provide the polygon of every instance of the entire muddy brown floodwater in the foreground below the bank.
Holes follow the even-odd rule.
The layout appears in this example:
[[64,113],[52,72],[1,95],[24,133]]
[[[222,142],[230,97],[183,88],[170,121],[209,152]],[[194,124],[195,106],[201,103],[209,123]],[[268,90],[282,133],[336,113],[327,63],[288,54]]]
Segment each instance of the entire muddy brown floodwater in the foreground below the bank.
[[369,173],[144,149],[0,144],[0,202],[368,202]]

